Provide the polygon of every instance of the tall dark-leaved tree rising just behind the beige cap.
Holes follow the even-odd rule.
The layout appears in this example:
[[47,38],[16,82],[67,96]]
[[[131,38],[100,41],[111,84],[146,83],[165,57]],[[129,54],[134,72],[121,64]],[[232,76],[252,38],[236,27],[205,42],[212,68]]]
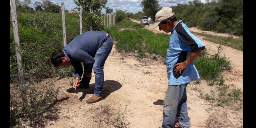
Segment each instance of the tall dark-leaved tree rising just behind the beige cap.
[[[142,0],[140,5],[143,7],[142,10],[145,16],[155,17],[155,14],[160,10],[157,0]],[[155,21],[155,18],[152,18]]]

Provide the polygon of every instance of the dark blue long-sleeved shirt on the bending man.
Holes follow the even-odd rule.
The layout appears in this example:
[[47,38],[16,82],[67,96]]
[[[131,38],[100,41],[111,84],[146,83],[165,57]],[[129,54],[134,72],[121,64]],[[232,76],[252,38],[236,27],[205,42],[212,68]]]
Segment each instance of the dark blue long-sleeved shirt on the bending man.
[[75,77],[81,79],[84,64],[84,74],[89,75],[94,64],[94,56],[100,46],[107,40],[106,31],[87,31],[74,38],[62,51],[75,69]]

